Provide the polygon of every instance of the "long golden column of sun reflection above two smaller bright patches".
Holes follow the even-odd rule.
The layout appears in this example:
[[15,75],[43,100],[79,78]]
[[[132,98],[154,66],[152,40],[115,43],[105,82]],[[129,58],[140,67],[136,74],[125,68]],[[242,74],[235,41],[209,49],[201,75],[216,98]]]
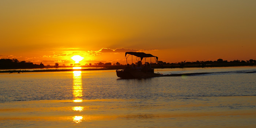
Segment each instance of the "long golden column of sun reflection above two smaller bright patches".
[[83,88],[82,88],[82,72],[81,71],[73,71],[73,96],[75,99],[74,102],[82,102],[83,99]]

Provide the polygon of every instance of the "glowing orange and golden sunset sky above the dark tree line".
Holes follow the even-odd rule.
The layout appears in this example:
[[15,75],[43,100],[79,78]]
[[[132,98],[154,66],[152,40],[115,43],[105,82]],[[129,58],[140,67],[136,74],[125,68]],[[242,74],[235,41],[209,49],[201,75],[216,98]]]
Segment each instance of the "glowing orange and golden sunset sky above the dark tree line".
[[256,0],[1,0],[0,59],[126,64],[256,59]]

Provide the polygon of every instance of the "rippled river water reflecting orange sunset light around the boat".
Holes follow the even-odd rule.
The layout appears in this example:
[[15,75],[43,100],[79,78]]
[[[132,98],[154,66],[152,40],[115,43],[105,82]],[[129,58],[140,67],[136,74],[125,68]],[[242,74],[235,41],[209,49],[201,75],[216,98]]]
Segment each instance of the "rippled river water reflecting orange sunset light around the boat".
[[[114,70],[0,74],[0,127],[255,128],[256,67],[118,79]],[[254,72],[254,73],[246,73]]]

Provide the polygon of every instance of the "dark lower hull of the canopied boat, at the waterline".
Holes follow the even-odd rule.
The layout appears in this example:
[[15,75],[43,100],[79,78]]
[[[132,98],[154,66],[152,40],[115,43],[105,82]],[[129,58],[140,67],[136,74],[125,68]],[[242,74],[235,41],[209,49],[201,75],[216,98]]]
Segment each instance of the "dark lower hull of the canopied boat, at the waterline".
[[116,75],[123,79],[152,78],[160,76],[160,74],[135,70],[116,70]]

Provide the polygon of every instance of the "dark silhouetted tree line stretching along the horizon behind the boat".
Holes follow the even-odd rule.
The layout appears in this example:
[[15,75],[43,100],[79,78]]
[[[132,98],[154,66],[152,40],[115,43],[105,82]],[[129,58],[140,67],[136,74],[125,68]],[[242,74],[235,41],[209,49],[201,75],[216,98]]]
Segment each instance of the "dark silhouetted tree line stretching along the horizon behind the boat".
[[[135,63],[136,64],[136,63]],[[71,67],[74,65],[80,64],[70,64]],[[158,61],[158,64],[154,63],[152,64],[153,68],[184,68],[184,67],[226,67],[226,66],[245,66],[245,65],[256,65],[256,60],[250,59],[250,60],[233,60],[233,61],[227,61],[223,59],[218,59],[217,61],[195,61],[195,62],[186,62],[181,61],[177,63],[166,63],[163,61]],[[47,65],[50,66],[50,65]],[[65,67],[65,65],[63,64]],[[86,64],[85,67],[109,67],[109,66],[124,66],[123,64],[120,64],[119,62],[116,63],[94,63],[94,64]],[[26,61],[19,61],[17,59],[0,59],[0,68],[1,69],[18,69],[18,68],[44,68],[44,64],[33,64],[31,62]],[[55,63],[54,67],[59,67],[58,63]]]

